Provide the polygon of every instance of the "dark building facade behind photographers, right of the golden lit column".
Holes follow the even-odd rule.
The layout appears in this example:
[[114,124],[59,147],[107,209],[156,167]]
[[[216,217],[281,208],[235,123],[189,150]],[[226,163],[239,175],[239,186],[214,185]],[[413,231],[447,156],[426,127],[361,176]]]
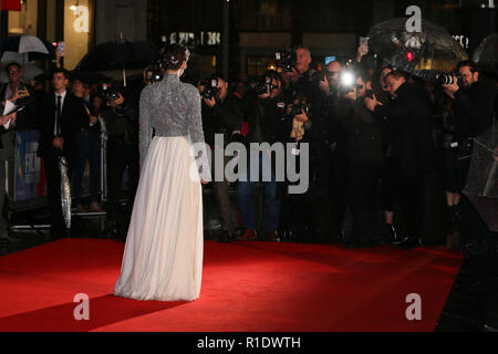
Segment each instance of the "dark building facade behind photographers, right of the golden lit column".
[[[446,28],[471,52],[496,30],[490,0],[148,0],[147,38],[160,45],[187,44],[205,71],[221,71],[222,28],[228,22],[230,77],[259,75],[276,67],[274,52],[307,45],[315,60],[353,56],[359,38],[382,21],[422,17]],[[196,63],[197,63],[196,62]]]

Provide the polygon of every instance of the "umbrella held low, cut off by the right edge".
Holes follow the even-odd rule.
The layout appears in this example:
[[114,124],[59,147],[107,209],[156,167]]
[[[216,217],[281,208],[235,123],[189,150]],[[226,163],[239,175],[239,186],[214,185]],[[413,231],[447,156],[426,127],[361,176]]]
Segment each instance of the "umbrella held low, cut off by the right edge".
[[474,139],[464,194],[489,230],[498,231],[498,125]]

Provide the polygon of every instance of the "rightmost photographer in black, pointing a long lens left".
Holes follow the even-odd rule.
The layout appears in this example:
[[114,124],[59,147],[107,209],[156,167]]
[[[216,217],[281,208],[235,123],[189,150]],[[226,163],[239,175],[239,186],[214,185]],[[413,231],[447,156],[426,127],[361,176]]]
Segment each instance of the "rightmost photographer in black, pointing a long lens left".
[[[473,139],[489,129],[494,123],[495,87],[489,81],[483,80],[477,65],[471,61],[463,61],[457,65],[458,76],[447,76],[450,81],[443,85],[454,105],[454,134],[445,149],[447,173],[453,176],[446,184],[447,198],[453,219],[459,219],[459,200],[465,187],[470,166]],[[452,79],[452,80],[449,80]],[[486,252],[494,248],[495,240],[488,228],[473,206],[471,240],[467,244],[470,252]]]

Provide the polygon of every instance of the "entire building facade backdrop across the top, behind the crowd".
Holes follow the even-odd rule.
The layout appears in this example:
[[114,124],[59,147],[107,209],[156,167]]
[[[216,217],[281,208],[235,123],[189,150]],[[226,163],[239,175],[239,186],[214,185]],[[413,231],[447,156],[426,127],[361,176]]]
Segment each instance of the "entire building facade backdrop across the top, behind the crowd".
[[372,25],[404,17],[413,4],[470,53],[496,31],[497,15],[494,0],[9,0],[12,3],[18,3],[15,11],[1,12],[0,37],[31,34],[64,42],[68,69],[95,44],[123,35],[157,46],[184,43],[194,53],[190,67],[205,75],[222,72],[228,53],[225,72],[231,79],[274,67],[274,52],[297,44],[307,45],[318,61],[352,56]]

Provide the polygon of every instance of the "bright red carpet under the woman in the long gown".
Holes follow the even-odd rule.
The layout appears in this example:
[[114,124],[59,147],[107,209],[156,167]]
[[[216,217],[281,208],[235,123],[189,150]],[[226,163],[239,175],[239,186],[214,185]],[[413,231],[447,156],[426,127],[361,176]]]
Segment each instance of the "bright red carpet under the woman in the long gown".
[[[112,295],[124,246],[65,239],[0,259],[0,331],[434,331],[463,256],[443,248],[205,243],[200,299]],[[90,296],[75,321],[74,295]],[[405,316],[422,296],[422,321]]]

